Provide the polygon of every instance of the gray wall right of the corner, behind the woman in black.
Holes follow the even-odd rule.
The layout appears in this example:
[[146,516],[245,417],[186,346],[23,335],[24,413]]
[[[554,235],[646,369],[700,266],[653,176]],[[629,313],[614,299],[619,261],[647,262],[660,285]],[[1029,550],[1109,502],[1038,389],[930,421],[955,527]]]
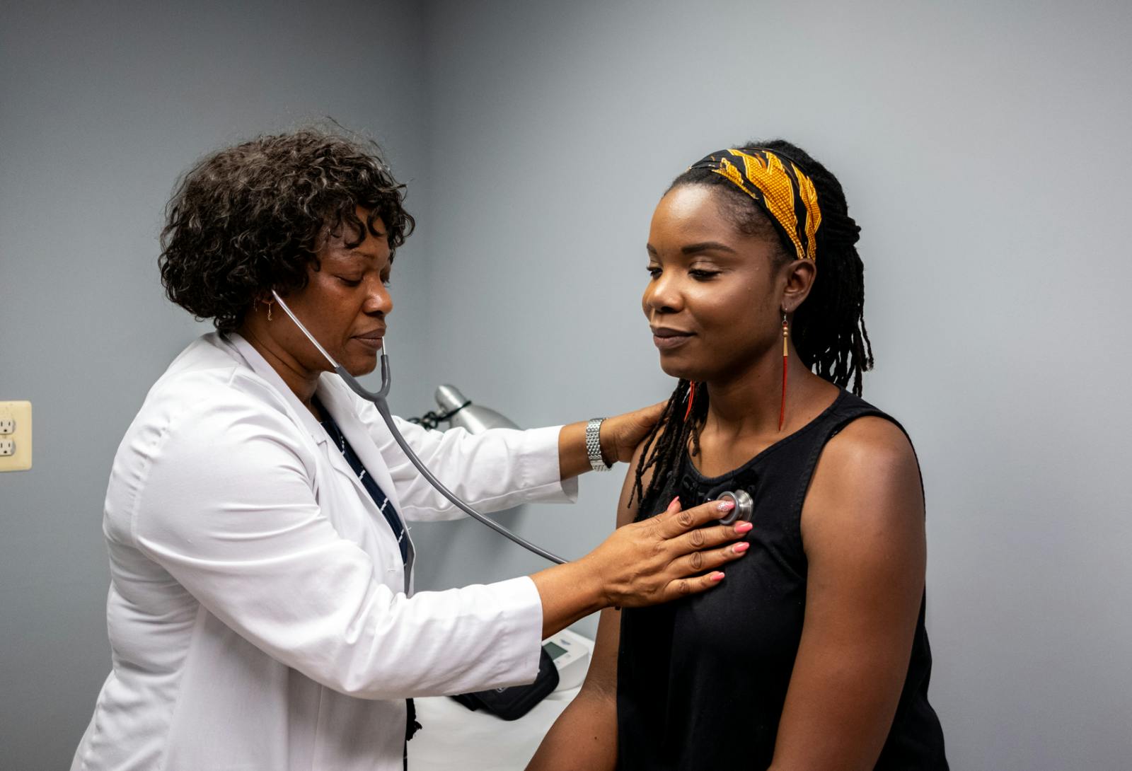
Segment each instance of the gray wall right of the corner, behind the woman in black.
[[[794,139],[864,228],[865,395],[924,466],[932,697],[953,768],[1129,768],[1132,8],[429,12],[436,377],[524,425],[667,396],[638,305],[652,208],[709,151]],[[509,519],[582,554],[619,477]],[[422,549],[438,585],[539,567],[457,526]]]

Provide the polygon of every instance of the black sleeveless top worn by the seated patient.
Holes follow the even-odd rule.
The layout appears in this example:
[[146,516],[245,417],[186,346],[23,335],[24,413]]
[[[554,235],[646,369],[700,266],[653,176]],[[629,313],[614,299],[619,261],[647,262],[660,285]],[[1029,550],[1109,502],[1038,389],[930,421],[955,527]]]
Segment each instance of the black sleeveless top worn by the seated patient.
[[[720,586],[621,611],[620,771],[770,765],[806,605],[801,505],[825,443],[864,416],[892,420],[842,391],[807,426],[740,468],[709,479],[685,457],[663,489],[642,502],[641,519],[663,511],[675,495],[691,508],[743,488],[754,498],[755,528],[745,539],[749,552],[727,565]],[[737,666],[740,659],[745,663]],[[927,701],[931,671],[921,600],[908,677],[878,771],[947,768],[940,720]]]

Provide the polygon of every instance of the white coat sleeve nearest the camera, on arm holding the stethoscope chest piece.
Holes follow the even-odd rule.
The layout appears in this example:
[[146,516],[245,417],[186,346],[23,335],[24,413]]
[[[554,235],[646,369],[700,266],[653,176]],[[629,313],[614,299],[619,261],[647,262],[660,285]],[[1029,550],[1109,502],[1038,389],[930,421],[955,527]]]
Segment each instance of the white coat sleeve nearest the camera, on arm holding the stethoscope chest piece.
[[300,430],[255,400],[174,416],[137,451],[135,546],[250,643],[341,693],[401,699],[532,682],[534,583],[394,593],[319,508]]

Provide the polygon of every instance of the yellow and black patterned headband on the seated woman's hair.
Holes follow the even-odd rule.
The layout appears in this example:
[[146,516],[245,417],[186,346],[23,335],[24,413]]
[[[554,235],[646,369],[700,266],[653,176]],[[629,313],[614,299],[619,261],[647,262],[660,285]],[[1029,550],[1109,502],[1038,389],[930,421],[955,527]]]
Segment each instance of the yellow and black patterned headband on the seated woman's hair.
[[816,258],[815,235],[822,224],[817,190],[790,159],[762,147],[720,149],[691,168],[710,169],[730,180],[771,215],[794,243],[798,259]]

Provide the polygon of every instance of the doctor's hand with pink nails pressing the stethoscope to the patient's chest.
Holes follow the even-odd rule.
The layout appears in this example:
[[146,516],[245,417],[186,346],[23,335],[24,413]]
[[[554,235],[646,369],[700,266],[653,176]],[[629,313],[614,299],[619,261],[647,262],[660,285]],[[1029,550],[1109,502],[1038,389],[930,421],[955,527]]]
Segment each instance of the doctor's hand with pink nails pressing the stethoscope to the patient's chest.
[[747,543],[732,541],[752,529],[749,522],[710,525],[731,506],[712,500],[681,511],[672,500],[662,514],[618,528],[581,559],[532,575],[542,636],[602,608],[657,605],[718,586],[723,574],[717,568],[747,552]]

